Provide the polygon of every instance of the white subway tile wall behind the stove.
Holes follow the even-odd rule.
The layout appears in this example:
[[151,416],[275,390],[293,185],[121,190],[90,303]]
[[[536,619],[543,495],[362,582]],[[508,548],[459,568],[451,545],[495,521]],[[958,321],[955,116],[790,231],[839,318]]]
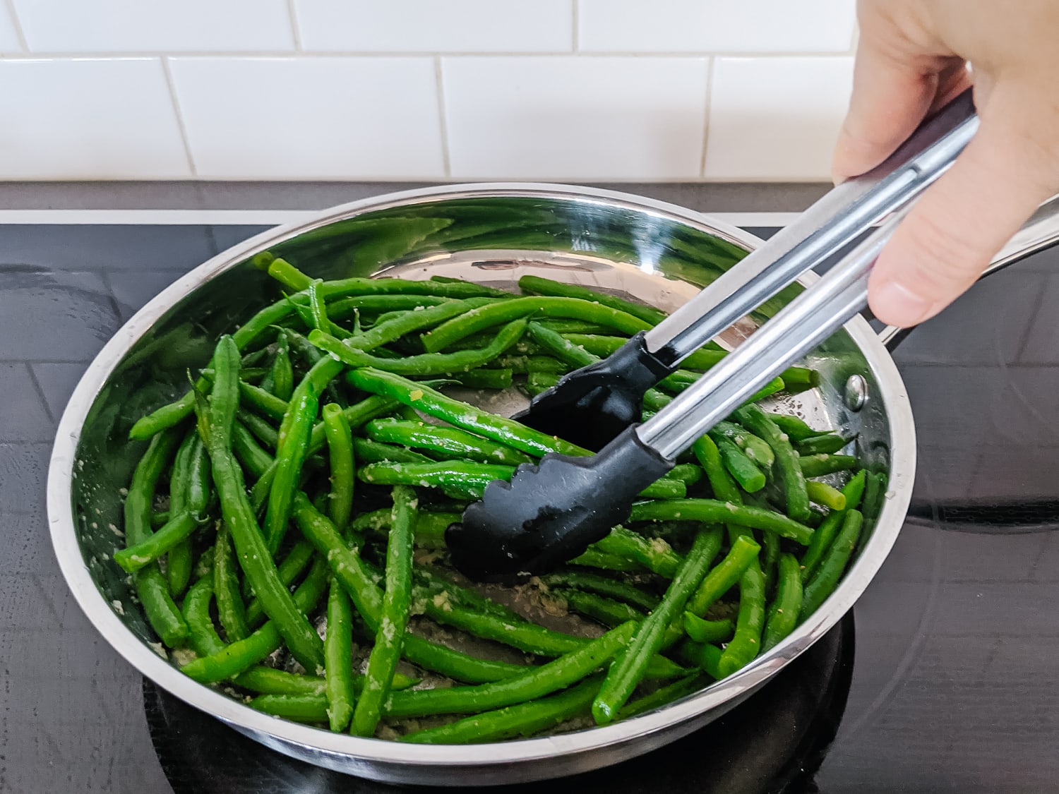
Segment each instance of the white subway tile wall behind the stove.
[[854,0],[3,0],[0,179],[820,180]]

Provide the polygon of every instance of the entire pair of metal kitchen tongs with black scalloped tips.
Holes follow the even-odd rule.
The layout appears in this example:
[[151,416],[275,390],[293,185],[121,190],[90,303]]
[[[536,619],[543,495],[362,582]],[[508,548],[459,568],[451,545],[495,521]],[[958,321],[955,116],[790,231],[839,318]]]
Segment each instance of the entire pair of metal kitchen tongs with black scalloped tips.
[[[535,400],[522,417],[527,425],[581,443],[581,431],[594,426],[606,446],[586,457],[548,454],[520,466],[510,483],[490,483],[446,533],[456,567],[479,580],[544,573],[626,520],[636,494],[680,452],[865,307],[882,247],[977,124],[968,91],[883,166],[831,191],[656,328]],[[683,358],[882,219],[731,355],[643,425],[632,423],[643,393]]]

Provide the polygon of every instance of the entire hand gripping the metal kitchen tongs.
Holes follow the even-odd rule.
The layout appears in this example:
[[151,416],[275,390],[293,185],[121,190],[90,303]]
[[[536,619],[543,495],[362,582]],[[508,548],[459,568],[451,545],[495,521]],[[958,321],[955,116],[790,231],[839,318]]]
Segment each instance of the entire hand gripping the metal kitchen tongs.
[[878,165],[972,79],[981,119],[872,272],[872,311],[907,327],[970,287],[1038,204],[1059,192],[1059,2],[859,0],[857,13],[860,44],[834,151],[837,180]]

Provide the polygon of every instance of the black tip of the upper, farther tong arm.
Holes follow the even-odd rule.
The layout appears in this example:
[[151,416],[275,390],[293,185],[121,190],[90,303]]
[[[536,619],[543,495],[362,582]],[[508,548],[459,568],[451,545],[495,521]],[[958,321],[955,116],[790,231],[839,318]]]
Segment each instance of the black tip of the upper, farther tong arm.
[[542,433],[599,450],[640,421],[644,393],[670,372],[648,353],[641,332],[603,361],[563,376],[513,418]]

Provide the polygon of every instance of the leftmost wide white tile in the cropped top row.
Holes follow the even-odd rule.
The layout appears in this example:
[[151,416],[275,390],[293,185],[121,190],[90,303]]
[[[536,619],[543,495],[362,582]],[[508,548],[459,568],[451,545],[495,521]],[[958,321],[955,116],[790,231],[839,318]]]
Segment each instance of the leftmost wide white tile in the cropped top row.
[[287,0],[14,0],[32,52],[293,50]]

